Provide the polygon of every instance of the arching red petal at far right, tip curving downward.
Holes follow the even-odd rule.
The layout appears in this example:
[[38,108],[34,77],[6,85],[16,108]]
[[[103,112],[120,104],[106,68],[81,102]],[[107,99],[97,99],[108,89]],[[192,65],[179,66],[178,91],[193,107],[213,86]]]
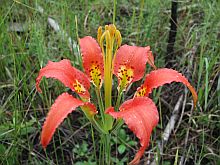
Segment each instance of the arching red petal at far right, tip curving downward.
[[196,104],[197,102],[196,91],[191,86],[191,84],[188,82],[186,77],[184,77],[181,73],[173,69],[167,69],[167,68],[162,68],[162,69],[158,69],[158,70],[150,72],[150,74],[146,76],[144,84],[140,88],[138,88],[136,95],[141,90],[146,89],[145,92],[141,96],[148,96],[149,93],[151,93],[154,88],[158,88],[164,84],[171,83],[171,82],[181,82],[184,85],[186,85],[193,95],[194,105]]

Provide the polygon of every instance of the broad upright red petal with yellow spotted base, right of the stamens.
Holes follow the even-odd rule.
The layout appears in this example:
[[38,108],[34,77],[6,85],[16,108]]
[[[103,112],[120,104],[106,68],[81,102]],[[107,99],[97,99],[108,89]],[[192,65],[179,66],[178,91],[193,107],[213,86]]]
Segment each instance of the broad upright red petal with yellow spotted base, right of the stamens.
[[140,80],[145,72],[148,60],[148,47],[121,46],[114,59],[114,74],[118,78],[119,88]]

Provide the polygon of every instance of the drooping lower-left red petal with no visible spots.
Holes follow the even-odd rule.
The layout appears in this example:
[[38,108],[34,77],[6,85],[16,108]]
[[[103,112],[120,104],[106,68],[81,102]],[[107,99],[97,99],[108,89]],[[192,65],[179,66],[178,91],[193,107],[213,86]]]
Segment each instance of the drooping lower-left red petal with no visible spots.
[[[41,133],[41,144],[44,148],[50,142],[56,128],[61,124],[61,122],[67,117],[69,113],[74,111],[78,106],[85,106],[88,103],[82,102],[74,98],[72,95],[68,93],[63,93],[52,105],[47,118],[44,122],[44,126]],[[96,114],[97,111],[93,106],[90,106],[90,113]]]

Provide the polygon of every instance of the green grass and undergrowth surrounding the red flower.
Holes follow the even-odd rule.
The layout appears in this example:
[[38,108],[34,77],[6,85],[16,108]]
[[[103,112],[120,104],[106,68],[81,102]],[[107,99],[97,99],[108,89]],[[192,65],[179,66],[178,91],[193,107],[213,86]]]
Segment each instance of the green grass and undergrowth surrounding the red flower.
[[[78,48],[70,50],[68,37],[55,32],[48,24],[48,17],[56,20],[60,28],[77,41],[77,36],[96,37],[100,25],[112,23],[113,8],[113,1],[110,0],[0,1],[0,164],[92,164],[95,161],[92,129],[80,111],[65,120],[47,151],[42,149],[39,137],[45,116],[54,99],[67,89],[56,81],[43,80],[43,93],[39,94],[35,79],[48,60],[68,58],[75,67],[81,66]],[[123,44],[150,45],[158,67],[164,67],[167,63],[170,8],[170,0],[120,0],[116,5],[116,26],[121,31]],[[22,25],[24,31],[13,30],[12,26],[16,23]],[[189,164],[218,164],[219,1],[179,1],[177,28],[173,68],[189,78],[198,92],[199,103],[189,124],[192,98],[188,92],[183,120],[165,146],[160,156],[161,163],[173,164],[175,157],[179,162],[184,155]],[[196,51],[189,53],[194,48]],[[157,146],[156,140],[161,140],[177,96],[184,93],[183,89],[174,83],[154,92],[154,100],[162,112],[160,124],[152,135],[154,146]],[[138,139],[126,127],[122,130],[121,141],[130,147],[123,149],[121,145],[120,149],[113,148],[115,164],[128,162],[138,149],[138,143],[135,143]],[[188,130],[188,143],[184,149]],[[113,140],[119,146],[122,142]],[[144,160],[149,153],[154,157],[157,151],[146,152]]]

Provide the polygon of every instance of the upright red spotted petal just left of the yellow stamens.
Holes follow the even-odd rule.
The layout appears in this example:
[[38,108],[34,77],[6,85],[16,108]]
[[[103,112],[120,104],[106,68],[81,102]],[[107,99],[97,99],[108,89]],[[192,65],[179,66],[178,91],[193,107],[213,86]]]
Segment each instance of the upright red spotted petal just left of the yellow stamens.
[[104,76],[104,64],[101,48],[96,40],[90,36],[80,39],[80,48],[85,73],[96,86],[101,86]]

